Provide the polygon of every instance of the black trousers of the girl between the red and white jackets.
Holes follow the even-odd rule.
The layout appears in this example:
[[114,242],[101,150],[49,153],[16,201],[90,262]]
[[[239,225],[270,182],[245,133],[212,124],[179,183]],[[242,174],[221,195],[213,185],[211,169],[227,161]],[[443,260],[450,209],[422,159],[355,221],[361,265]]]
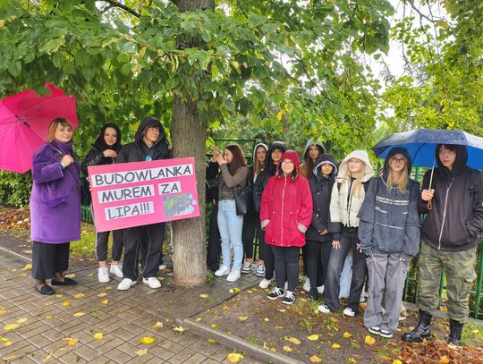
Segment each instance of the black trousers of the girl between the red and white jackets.
[[331,242],[306,241],[307,250],[307,276],[310,280],[310,288],[317,288],[325,284]]

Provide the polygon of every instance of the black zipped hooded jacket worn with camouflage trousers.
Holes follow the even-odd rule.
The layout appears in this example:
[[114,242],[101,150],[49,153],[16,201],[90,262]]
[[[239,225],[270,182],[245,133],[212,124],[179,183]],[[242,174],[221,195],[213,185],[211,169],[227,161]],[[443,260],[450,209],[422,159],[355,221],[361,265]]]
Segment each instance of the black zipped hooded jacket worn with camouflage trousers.
[[[439,159],[434,170],[431,188],[435,190],[432,209],[419,199],[419,213],[428,214],[421,228],[421,239],[429,246],[443,251],[472,249],[483,232],[483,175],[466,165],[468,150],[456,147],[452,170]],[[422,189],[428,190],[431,170],[424,175]]]

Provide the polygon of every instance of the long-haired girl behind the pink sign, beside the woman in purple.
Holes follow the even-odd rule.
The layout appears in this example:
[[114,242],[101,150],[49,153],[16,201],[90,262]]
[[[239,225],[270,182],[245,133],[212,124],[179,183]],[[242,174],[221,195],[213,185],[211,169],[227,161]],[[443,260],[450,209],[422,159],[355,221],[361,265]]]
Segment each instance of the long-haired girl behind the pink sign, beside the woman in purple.
[[[80,167],[82,174],[88,175],[90,165],[113,164],[115,157],[122,148],[121,131],[115,123],[106,123],[101,128],[97,140],[92,145],[92,149],[84,157]],[[113,261],[111,268],[107,267],[107,241],[111,232],[96,233],[96,258],[99,262],[97,277],[100,283],[109,282],[109,273],[123,278],[123,265],[120,263],[123,255],[123,229],[113,231]]]

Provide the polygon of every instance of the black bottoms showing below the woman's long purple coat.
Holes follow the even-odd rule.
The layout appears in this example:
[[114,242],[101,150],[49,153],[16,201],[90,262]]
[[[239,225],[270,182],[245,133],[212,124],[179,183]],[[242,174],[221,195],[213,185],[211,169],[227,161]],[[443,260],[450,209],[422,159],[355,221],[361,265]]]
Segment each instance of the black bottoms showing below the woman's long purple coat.
[[55,273],[62,273],[69,267],[70,241],[62,244],[47,244],[33,241],[32,277],[50,279]]

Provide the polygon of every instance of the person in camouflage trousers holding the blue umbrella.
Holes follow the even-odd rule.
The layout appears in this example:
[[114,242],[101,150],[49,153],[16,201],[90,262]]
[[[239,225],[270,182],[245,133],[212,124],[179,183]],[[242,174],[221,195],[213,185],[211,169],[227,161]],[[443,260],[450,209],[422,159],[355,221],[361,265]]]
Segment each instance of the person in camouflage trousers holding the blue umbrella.
[[414,330],[402,335],[406,342],[419,343],[431,336],[431,318],[439,305],[445,269],[448,343],[461,343],[470,289],[477,276],[477,241],[483,232],[483,175],[467,165],[469,159],[465,145],[437,144],[437,167],[424,175],[419,213],[428,215],[421,228],[419,318]]

